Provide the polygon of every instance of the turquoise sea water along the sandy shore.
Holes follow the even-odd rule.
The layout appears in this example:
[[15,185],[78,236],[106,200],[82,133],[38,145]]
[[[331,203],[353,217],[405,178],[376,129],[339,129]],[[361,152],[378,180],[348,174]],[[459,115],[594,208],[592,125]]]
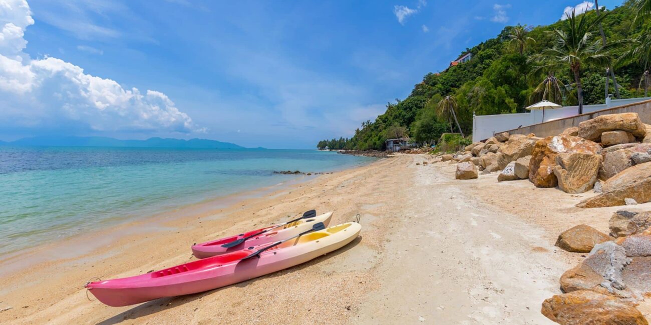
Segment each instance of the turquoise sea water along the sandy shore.
[[0,147],[0,253],[374,159],[316,150]]

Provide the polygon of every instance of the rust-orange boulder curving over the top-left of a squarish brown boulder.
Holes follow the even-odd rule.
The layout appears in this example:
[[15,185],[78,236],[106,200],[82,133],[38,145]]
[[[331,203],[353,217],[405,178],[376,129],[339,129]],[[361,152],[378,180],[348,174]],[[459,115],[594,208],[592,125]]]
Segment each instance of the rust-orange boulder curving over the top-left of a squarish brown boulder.
[[529,163],[529,181],[536,187],[555,187],[558,179],[553,170],[559,153],[602,153],[602,147],[595,142],[577,136],[547,136],[538,140]]

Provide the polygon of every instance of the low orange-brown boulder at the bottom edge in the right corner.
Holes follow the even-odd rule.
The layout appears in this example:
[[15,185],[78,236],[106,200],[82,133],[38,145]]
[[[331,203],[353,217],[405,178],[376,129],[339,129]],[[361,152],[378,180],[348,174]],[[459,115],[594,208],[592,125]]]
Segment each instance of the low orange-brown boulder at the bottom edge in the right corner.
[[542,303],[541,313],[562,325],[648,325],[637,304],[593,291],[557,294]]

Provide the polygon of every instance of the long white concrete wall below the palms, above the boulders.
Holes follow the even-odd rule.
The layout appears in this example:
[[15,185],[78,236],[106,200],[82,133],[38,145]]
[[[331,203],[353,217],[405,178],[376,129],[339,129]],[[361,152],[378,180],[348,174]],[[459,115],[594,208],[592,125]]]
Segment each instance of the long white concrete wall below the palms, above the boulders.
[[[609,105],[584,105],[583,112],[590,113],[596,110],[637,103],[648,99],[651,99],[651,97],[612,99]],[[560,109],[546,109],[544,120],[542,117],[542,110],[532,110],[531,112],[518,114],[478,115],[473,118],[473,142],[490,138],[495,135],[495,133],[500,133],[506,130],[518,129],[519,127],[557,120],[559,118],[568,118],[577,115],[578,112],[578,106],[566,106]]]

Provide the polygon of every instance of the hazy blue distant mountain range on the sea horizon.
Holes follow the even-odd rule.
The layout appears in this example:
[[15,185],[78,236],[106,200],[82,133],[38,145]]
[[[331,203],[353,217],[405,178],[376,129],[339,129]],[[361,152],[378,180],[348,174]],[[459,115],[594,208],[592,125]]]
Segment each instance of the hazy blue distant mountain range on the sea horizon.
[[71,146],[71,147],[138,147],[138,148],[212,148],[246,149],[230,142],[193,138],[148,138],[147,140],[118,140],[106,136],[35,136],[5,142],[0,146]]

